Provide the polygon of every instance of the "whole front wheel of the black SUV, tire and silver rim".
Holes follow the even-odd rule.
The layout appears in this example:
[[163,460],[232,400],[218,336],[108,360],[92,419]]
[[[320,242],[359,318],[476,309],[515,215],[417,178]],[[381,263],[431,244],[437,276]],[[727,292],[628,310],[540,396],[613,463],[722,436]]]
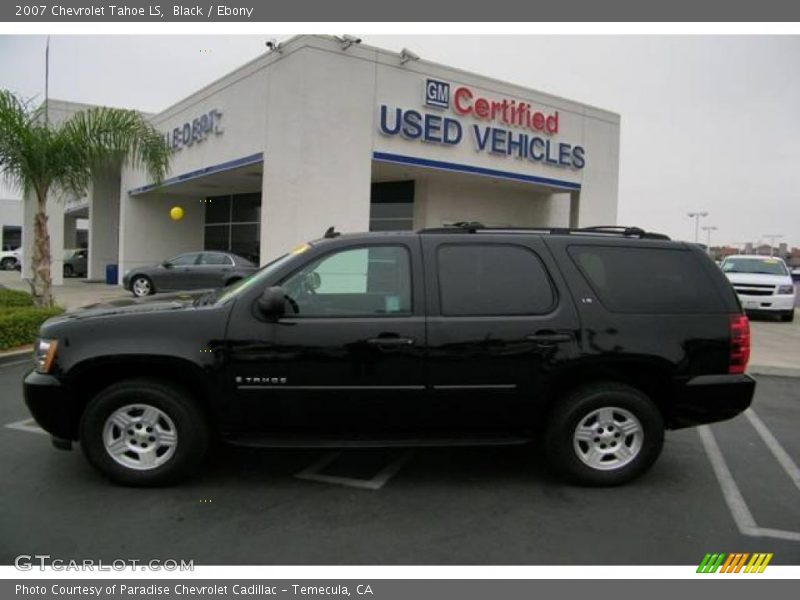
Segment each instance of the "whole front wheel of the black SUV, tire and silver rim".
[[81,447],[106,477],[124,485],[164,485],[196,470],[208,449],[201,409],[181,388],[133,379],[101,391],[81,418]]

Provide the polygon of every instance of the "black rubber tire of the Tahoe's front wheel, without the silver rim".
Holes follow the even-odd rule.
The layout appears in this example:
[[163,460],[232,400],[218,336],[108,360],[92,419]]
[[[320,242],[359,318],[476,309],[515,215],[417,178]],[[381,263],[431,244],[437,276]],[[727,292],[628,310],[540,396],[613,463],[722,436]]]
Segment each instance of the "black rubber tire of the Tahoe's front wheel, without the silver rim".
[[[115,411],[129,405],[154,407],[174,424],[176,444],[162,464],[140,470],[121,464],[106,450],[106,422]],[[131,431],[133,428],[120,434],[127,438]],[[208,451],[209,431],[204,412],[190,393],[156,379],[142,378],[116,383],[97,394],[81,417],[80,440],[89,462],[111,481],[130,486],[158,486],[176,483],[198,469]],[[127,443],[124,439],[123,442]],[[162,449],[157,443],[152,446],[153,453]],[[142,451],[137,449],[137,452]]]

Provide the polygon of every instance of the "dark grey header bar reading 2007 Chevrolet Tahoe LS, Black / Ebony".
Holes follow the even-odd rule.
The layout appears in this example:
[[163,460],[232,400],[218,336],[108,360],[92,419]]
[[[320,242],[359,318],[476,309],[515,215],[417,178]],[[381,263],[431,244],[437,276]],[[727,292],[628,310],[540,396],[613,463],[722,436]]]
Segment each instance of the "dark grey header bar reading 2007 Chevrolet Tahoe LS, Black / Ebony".
[[785,22],[787,0],[10,0],[3,22]]

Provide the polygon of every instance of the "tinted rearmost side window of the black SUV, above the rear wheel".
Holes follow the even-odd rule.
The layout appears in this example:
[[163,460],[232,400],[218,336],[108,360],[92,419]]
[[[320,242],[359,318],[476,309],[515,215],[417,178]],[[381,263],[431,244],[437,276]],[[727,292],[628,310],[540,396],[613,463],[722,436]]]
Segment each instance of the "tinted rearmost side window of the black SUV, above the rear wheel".
[[689,251],[625,246],[571,246],[568,251],[612,312],[724,311],[714,282]]

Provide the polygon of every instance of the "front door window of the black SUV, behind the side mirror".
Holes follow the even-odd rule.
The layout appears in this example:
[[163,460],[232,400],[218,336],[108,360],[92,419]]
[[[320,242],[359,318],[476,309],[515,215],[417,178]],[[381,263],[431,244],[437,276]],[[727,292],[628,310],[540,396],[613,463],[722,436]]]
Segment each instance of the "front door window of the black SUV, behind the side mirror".
[[282,284],[287,314],[375,317],[411,314],[411,268],[402,246],[353,248],[328,254]]

